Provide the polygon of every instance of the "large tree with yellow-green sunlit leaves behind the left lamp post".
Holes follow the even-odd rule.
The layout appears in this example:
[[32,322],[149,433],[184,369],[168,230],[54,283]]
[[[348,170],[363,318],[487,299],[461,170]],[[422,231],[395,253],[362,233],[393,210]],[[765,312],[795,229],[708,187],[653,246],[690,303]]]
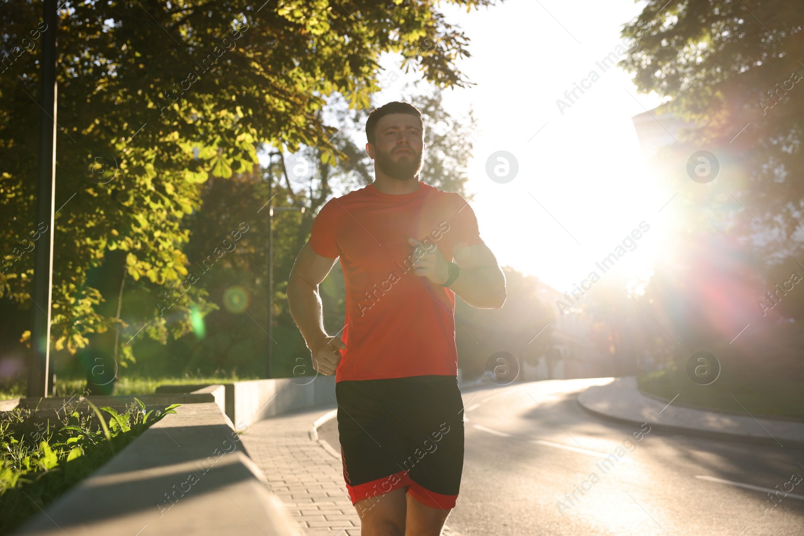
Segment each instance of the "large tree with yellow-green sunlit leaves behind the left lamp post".
[[[451,0],[472,7],[492,0]],[[3,316],[30,309],[39,117],[41,3],[7,0],[0,13],[0,182]],[[64,2],[58,29],[59,133],[54,243],[55,349],[71,353],[93,333],[125,327],[164,341],[211,310],[200,290],[178,297],[168,325],[155,303],[142,327],[109,306],[125,278],[158,297],[187,285],[186,216],[210,176],[249,173],[256,149],[315,147],[343,157],[321,110],[340,92],[352,106],[375,92],[378,55],[399,51],[427,80],[465,87],[454,60],[468,39],[435,2]],[[425,47],[425,41],[428,43]],[[24,49],[24,50],[23,50]],[[124,252],[122,266],[111,252]],[[9,253],[11,252],[11,253]],[[122,258],[122,257],[121,257]],[[115,264],[114,266],[112,264]],[[122,268],[122,269],[121,269]],[[88,284],[105,270],[106,293]],[[146,303],[143,301],[143,303]],[[137,329],[139,331],[137,331]],[[132,357],[130,345],[121,346]],[[113,350],[117,352],[117,347]]]

